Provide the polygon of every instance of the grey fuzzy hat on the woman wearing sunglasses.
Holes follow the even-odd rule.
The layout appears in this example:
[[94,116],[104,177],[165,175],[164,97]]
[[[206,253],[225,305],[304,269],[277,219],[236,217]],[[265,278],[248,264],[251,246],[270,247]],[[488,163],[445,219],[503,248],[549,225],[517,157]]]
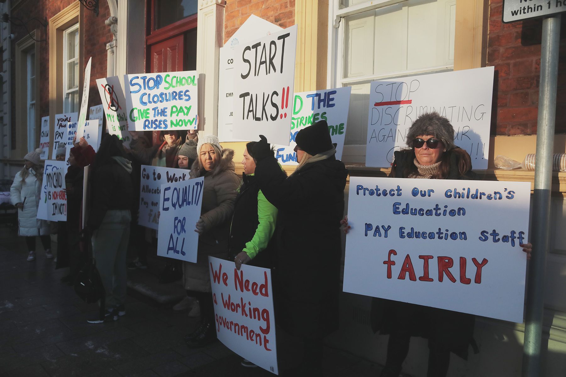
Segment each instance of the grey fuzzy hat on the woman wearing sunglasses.
[[413,148],[413,140],[417,136],[432,135],[444,144],[446,150],[456,148],[454,145],[454,127],[447,118],[438,112],[428,112],[417,118],[407,133],[407,145]]

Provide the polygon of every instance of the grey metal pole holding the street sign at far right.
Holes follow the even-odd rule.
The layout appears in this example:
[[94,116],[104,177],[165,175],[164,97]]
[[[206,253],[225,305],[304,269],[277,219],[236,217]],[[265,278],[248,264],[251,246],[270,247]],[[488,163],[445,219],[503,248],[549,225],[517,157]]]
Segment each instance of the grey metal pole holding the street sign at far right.
[[550,246],[550,192],[552,149],[556,116],[560,14],[544,18],[542,23],[541,83],[538,97],[537,163],[534,174],[533,222],[527,288],[523,377],[541,375],[542,318],[544,312],[544,272]]

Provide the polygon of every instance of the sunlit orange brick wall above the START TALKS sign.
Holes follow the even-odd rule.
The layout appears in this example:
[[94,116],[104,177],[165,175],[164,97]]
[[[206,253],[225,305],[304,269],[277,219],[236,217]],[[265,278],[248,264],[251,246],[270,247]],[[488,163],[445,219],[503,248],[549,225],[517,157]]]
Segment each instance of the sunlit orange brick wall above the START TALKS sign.
[[295,24],[295,0],[227,0],[224,42],[250,17],[256,15],[286,28]]

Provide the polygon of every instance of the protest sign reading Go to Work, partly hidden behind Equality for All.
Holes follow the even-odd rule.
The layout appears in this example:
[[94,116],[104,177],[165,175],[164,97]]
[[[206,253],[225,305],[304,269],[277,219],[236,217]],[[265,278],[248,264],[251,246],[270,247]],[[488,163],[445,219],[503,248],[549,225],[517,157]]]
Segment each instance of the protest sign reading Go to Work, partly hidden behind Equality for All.
[[141,165],[140,213],[138,224],[158,229],[161,185],[188,179],[188,170]]

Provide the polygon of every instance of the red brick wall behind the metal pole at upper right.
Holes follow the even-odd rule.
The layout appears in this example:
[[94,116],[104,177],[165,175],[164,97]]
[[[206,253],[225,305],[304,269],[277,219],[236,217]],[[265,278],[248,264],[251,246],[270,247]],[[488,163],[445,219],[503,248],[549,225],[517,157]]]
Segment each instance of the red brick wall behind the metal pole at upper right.
[[[537,133],[542,20],[501,22],[503,0],[491,0],[487,65],[495,67],[492,135]],[[566,18],[561,22],[556,133],[566,132]]]

